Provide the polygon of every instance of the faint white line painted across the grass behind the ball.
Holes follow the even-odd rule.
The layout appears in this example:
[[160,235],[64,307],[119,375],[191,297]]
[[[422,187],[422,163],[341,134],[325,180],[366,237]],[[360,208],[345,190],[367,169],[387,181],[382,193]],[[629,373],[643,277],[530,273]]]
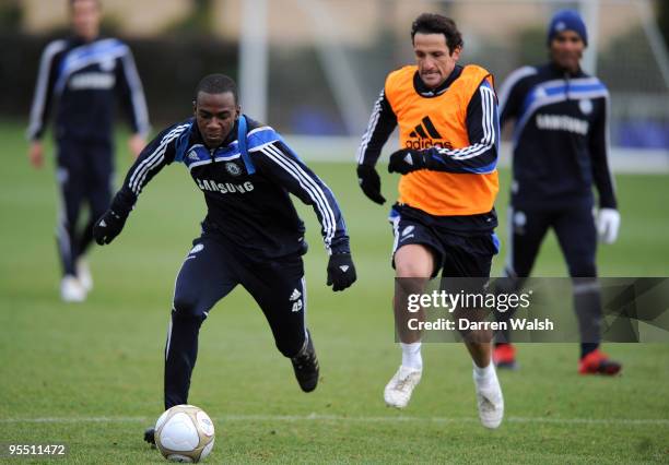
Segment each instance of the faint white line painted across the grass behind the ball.
[[[347,417],[342,415],[225,415],[214,417],[216,421],[340,421],[340,422],[437,422],[459,424],[479,422],[477,418],[446,417]],[[151,422],[148,417],[44,417],[44,418],[0,418],[0,424],[77,424],[77,422]],[[655,425],[669,426],[667,418],[541,418],[541,417],[508,417],[505,422],[513,424],[555,424],[555,425]]]

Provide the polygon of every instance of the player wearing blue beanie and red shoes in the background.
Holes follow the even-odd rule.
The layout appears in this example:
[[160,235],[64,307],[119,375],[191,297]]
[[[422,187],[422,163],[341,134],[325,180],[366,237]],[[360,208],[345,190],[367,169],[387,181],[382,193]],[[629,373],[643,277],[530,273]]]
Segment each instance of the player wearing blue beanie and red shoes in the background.
[[[578,371],[615,374],[621,365],[599,350],[601,302],[595,255],[598,234],[605,243],[615,241],[620,214],[607,160],[609,92],[580,69],[587,44],[578,13],[560,11],[548,32],[550,62],[520,68],[502,86],[501,123],[515,120],[505,275],[512,287],[520,286],[553,228],[570,275],[585,278],[574,285],[582,337]],[[597,217],[592,184],[599,193]],[[502,368],[516,365],[508,337],[508,333],[498,337],[494,350]]]

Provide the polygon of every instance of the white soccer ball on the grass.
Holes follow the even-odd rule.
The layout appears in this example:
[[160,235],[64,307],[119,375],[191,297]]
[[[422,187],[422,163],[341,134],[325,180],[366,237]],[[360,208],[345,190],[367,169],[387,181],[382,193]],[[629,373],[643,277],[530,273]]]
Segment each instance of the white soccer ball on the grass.
[[213,422],[195,405],[175,405],[155,422],[155,445],[168,461],[199,462],[209,455],[213,443]]

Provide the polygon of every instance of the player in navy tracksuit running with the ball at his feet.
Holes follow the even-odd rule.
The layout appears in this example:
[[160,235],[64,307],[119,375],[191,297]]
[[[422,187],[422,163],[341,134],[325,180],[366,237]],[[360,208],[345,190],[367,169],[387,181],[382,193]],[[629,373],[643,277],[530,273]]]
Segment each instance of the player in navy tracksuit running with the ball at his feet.
[[[144,186],[174,162],[188,168],[204,194],[208,212],[202,233],[193,240],[175,286],[165,347],[165,408],[187,403],[200,326],[238,284],[260,306],[300,386],[310,392],[318,383],[318,360],[305,325],[302,255],[307,245],[289,194],[314,207],[330,255],[327,284],[343,290],[356,276],[337,201],[272,128],[242,115],[232,79],[203,78],[193,112],[142,151],[93,230],[99,245],[114,240]],[[152,441],[152,432],[146,439]]]

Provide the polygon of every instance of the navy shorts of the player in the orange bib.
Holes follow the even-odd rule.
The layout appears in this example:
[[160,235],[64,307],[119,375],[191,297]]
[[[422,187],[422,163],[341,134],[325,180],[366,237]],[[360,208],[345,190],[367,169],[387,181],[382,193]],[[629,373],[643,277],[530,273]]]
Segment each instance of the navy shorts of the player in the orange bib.
[[392,267],[395,252],[402,246],[427,247],[434,257],[431,277],[490,277],[492,258],[500,251],[500,240],[493,231],[465,234],[445,226],[447,220],[416,208],[395,205],[388,220],[392,225]]

